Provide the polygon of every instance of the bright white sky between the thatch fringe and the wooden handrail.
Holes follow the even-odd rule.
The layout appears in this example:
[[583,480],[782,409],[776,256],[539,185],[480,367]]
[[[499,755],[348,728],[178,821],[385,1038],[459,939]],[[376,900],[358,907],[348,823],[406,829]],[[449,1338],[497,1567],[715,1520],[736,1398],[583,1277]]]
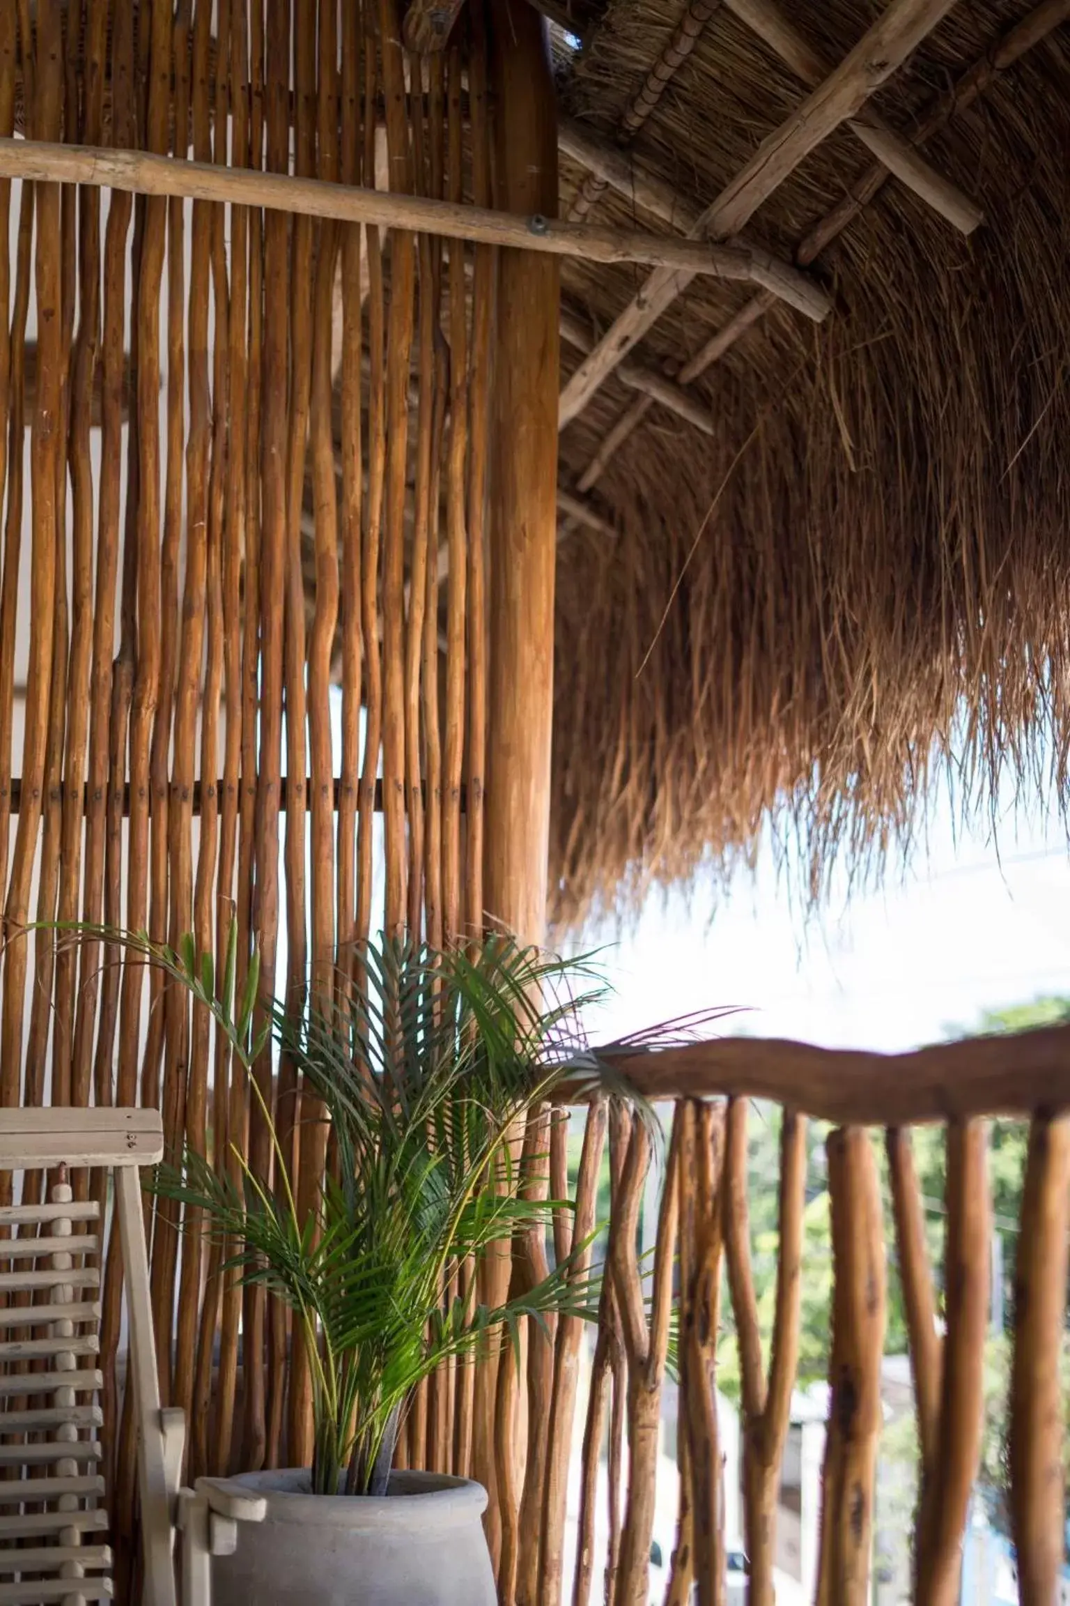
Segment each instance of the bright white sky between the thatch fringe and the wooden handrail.
[[946,795],[927,851],[882,891],[805,919],[770,854],[727,899],[655,896],[630,935],[595,941],[616,989],[592,1041],[693,1009],[740,1005],[723,1029],[829,1047],[906,1049],[972,1026],[983,1009],[1070,993],[1070,861],[1057,819],[956,834]]

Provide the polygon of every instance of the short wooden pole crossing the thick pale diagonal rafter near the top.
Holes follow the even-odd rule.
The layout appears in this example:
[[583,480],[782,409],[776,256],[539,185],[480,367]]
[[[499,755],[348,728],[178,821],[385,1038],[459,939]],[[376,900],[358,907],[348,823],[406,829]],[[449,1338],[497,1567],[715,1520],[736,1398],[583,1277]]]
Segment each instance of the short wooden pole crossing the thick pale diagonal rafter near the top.
[[[765,40],[773,55],[780,56],[807,88],[817,88],[828,77],[828,63],[809,45],[775,0],[723,0],[723,3],[752,34]],[[863,108],[858,117],[849,119],[847,127],[906,190],[959,233],[972,234],[983,220],[982,209],[958,185],[938,173],[916,146],[889,128],[884,117],[871,106]]]

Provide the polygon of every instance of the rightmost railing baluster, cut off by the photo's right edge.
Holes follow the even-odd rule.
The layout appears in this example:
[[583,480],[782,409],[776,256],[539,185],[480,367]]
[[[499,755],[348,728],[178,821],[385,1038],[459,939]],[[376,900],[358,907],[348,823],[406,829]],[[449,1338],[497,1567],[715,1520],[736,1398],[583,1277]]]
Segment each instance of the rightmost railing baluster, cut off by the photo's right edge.
[[1064,1551],[1059,1359],[1067,1307],[1070,1116],[1033,1118],[1014,1277],[1011,1532],[1022,1606],[1056,1600]]

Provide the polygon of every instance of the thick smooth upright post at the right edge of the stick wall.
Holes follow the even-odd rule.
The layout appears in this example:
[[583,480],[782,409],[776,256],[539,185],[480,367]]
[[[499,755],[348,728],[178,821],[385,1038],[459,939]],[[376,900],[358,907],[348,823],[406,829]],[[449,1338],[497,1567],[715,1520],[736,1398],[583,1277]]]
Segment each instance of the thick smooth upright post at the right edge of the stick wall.
[[[545,24],[491,8],[496,206],[557,212],[557,114]],[[491,487],[488,914],[523,941],[545,922],[557,543],[558,267],[502,251]]]

